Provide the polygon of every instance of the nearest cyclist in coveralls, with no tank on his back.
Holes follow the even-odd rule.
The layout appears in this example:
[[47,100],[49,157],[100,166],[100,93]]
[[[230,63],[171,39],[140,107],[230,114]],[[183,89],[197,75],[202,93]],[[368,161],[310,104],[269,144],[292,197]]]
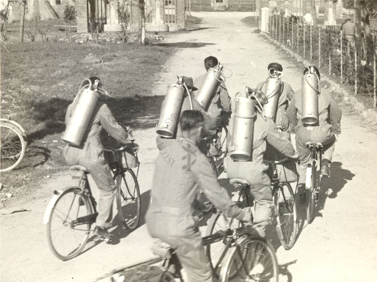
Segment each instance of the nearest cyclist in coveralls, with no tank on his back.
[[250,222],[251,214],[231,201],[199,149],[204,125],[201,112],[183,111],[179,124],[181,136],[165,144],[172,161],[167,162],[159,154],[155,162],[147,228],[153,238],[160,238],[176,249],[188,281],[212,281],[210,262],[193,216],[199,189],[228,217]]

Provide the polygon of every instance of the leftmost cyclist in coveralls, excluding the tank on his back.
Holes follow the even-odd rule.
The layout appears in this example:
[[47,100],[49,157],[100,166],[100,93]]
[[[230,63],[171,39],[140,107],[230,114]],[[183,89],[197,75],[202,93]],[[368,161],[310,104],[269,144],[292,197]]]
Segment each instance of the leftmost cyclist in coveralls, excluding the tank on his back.
[[[86,80],[87,85],[97,85],[100,87],[102,84],[100,79],[92,76]],[[86,84],[81,85],[85,87]],[[91,89],[93,90],[93,89]],[[134,147],[135,151],[138,150],[138,145],[133,143],[135,140],[132,135],[128,134],[118,124],[114,116],[112,115],[109,107],[102,100],[106,100],[106,95],[103,91],[97,91],[100,95],[100,101],[97,102],[93,111],[92,117],[89,121],[89,126],[84,134],[84,139],[81,146],[75,146],[67,144],[63,148],[63,156],[67,165],[82,165],[92,175],[93,180],[100,189],[100,199],[98,200],[98,216],[96,219],[96,227],[94,234],[103,238],[110,239],[111,234],[107,231],[107,228],[111,227],[112,221],[112,205],[115,197],[115,182],[113,175],[110,171],[109,164],[104,159],[104,151],[100,143],[100,132],[102,129],[122,144],[129,144],[130,147]],[[72,118],[72,111],[74,110],[74,104],[70,104],[66,112],[66,124],[69,124]]]

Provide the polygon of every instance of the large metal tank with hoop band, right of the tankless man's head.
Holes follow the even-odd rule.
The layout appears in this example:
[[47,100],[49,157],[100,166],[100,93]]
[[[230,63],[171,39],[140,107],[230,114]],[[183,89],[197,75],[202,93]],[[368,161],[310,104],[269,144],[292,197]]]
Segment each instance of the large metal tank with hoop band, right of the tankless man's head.
[[251,159],[253,148],[255,109],[265,118],[262,104],[267,103],[267,98],[262,91],[246,87],[246,93],[244,95],[237,93],[233,101],[234,120],[229,155],[233,160],[247,161]]

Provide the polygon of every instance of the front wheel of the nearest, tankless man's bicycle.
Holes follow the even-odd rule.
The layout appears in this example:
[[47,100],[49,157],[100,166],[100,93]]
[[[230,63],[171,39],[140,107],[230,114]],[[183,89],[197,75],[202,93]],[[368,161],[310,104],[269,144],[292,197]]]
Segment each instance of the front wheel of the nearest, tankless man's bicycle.
[[[221,281],[271,281],[279,279],[279,265],[273,245],[265,238],[247,236],[237,239],[224,257]],[[262,277],[261,277],[262,276]]]

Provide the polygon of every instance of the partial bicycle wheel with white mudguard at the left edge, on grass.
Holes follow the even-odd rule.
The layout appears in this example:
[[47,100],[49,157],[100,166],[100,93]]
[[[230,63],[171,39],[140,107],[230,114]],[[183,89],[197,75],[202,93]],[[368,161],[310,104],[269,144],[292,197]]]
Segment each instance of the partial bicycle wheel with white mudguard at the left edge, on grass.
[[21,131],[12,123],[0,123],[0,172],[18,166],[26,151],[26,141]]

